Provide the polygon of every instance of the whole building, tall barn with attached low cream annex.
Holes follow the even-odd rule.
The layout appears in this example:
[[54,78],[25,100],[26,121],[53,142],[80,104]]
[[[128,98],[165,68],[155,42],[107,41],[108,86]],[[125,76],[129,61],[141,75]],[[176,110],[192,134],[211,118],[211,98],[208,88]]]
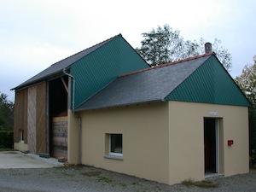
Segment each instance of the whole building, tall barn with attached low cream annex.
[[148,67],[118,35],[14,90],[16,149],[167,184],[249,171],[250,102],[211,51]]

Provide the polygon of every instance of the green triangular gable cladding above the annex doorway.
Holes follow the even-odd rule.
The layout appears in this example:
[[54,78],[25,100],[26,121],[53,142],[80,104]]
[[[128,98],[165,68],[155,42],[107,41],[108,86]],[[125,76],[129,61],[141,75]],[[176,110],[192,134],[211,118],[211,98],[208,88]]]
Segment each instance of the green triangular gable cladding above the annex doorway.
[[165,100],[251,106],[215,55],[201,64]]

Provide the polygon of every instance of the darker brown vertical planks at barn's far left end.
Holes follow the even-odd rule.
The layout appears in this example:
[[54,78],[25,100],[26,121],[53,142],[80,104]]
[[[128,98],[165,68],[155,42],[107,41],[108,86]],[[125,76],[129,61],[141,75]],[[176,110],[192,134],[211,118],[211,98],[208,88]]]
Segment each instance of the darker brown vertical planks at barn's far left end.
[[27,143],[27,89],[15,93],[14,142],[20,142],[20,130],[24,130],[24,143]]

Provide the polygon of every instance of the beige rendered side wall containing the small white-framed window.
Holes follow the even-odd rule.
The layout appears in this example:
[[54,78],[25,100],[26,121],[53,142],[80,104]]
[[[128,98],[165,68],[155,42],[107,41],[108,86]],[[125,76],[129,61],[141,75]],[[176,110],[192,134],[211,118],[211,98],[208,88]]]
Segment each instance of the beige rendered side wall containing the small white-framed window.
[[[151,103],[88,111],[82,117],[82,164],[169,181],[168,105]],[[123,160],[106,159],[106,134],[123,134]]]

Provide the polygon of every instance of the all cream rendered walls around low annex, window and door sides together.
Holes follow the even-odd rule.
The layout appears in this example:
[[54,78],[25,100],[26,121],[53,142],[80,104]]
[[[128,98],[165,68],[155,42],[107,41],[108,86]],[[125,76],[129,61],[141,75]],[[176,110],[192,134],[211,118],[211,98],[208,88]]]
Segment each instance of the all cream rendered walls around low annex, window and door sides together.
[[[211,115],[210,112],[217,112]],[[202,180],[204,118],[218,119],[219,172],[249,171],[248,108],[160,102],[77,113],[82,119],[81,163],[160,183]],[[123,160],[105,158],[106,134],[123,134]],[[233,139],[232,146],[227,140]],[[79,122],[68,111],[68,162],[79,162]]]

